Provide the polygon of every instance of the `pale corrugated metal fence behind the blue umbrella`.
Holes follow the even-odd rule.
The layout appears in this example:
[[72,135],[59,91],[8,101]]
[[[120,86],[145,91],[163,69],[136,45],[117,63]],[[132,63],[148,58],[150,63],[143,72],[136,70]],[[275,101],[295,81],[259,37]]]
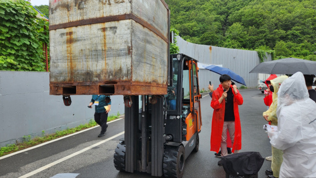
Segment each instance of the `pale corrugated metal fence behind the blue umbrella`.
[[[222,67],[228,68],[242,76],[246,82],[247,88],[257,87],[258,73],[249,73],[249,71],[260,63],[257,51],[194,44],[185,41],[180,36],[176,36],[176,40],[180,49],[179,53],[186,54],[196,59],[199,63],[222,65]],[[270,54],[267,53],[266,56],[267,58],[265,58],[265,62],[272,60]],[[220,84],[219,76],[220,75],[215,72],[199,69],[199,90],[207,91],[209,81],[212,82],[214,89],[216,89]],[[236,85],[238,88],[241,86],[239,83],[236,83]]]

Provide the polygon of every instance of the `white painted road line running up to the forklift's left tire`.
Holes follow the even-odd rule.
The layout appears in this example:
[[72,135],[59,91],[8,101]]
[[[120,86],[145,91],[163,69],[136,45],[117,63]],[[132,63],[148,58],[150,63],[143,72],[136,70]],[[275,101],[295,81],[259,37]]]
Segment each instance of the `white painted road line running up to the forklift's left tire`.
[[86,148],[84,148],[84,149],[81,149],[80,151],[77,151],[77,152],[71,154],[71,155],[68,155],[68,156],[66,156],[66,157],[64,157],[64,158],[61,158],[61,159],[59,159],[59,160],[57,160],[57,161],[54,161],[54,162],[52,162],[52,163],[50,163],[50,164],[47,164],[46,166],[43,166],[43,167],[41,167],[41,168],[39,168],[39,169],[37,169],[37,170],[35,170],[35,171],[32,171],[31,173],[28,173],[28,174],[26,174],[26,175],[23,175],[23,176],[21,176],[21,177],[19,177],[19,178],[28,178],[28,177],[30,177],[30,176],[33,176],[33,175],[35,175],[35,174],[37,174],[37,173],[39,173],[39,172],[41,172],[41,171],[43,171],[43,170],[45,170],[45,169],[47,169],[47,168],[50,168],[50,167],[52,167],[52,166],[54,166],[54,165],[56,165],[56,164],[58,164],[58,163],[61,163],[61,162],[65,161],[65,160],[67,160],[67,159],[69,159],[69,158],[72,158],[72,157],[74,157],[74,156],[76,156],[76,155],[79,155],[80,153],[83,153],[84,151],[87,151],[87,150],[89,150],[89,149],[91,149],[91,148],[93,148],[93,147],[95,147],[95,146],[98,146],[98,145],[100,145],[100,144],[102,144],[102,143],[108,142],[108,141],[110,141],[110,140],[112,140],[112,139],[114,139],[114,138],[116,138],[116,137],[118,137],[118,136],[120,136],[120,135],[123,135],[123,134],[124,134],[124,132],[121,132],[121,133],[119,133],[119,134],[117,134],[117,135],[115,135],[115,136],[112,136],[112,137],[110,137],[110,138],[104,140],[104,141],[97,142],[97,143],[95,143],[95,144],[93,144],[93,145],[91,145],[91,146],[88,146],[88,147],[86,147]]

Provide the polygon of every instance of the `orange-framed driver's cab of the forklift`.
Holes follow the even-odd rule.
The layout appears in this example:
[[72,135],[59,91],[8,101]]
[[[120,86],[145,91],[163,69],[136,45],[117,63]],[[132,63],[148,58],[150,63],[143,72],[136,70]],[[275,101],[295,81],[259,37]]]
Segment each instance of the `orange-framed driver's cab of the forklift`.
[[[184,55],[170,55],[172,61],[172,85],[165,95],[167,103],[166,134],[173,136],[173,142],[191,140],[201,131],[201,109],[197,75],[197,60]],[[171,69],[170,69],[171,71]],[[181,118],[181,121],[178,121]],[[174,129],[174,128],[181,129]]]

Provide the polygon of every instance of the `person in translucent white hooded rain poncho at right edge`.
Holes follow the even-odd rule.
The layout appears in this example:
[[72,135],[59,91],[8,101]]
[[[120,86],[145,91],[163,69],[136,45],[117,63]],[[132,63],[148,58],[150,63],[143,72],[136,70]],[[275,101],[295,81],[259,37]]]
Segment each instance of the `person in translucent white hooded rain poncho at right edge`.
[[277,132],[268,132],[271,144],[283,150],[280,178],[316,178],[315,111],[303,73],[283,81],[278,91]]

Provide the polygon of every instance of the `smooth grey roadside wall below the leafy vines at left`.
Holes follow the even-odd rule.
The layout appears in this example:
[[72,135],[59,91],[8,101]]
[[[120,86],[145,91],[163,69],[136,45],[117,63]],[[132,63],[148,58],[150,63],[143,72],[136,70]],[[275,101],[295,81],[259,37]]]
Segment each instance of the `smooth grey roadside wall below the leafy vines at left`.
[[[62,96],[49,95],[49,72],[0,71],[0,146],[88,123],[94,108],[91,95],[71,96],[66,107]],[[123,96],[111,96],[109,115],[124,113]]]

